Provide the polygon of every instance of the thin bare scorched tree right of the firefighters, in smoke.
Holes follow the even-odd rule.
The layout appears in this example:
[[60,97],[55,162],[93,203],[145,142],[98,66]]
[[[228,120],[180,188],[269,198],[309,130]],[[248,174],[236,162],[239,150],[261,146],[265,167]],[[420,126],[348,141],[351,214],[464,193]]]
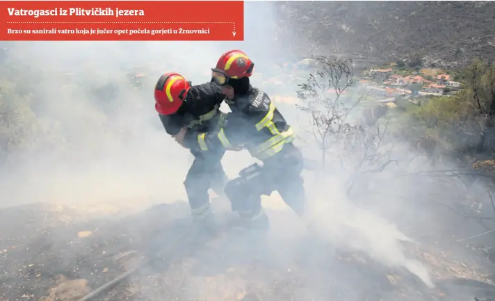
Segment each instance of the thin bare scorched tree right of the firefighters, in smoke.
[[316,63],[318,71],[309,74],[306,83],[299,85],[297,95],[301,104],[296,107],[309,116],[311,134],[320,148],[323,170],[327,166],[327,154],[333,154],[332,158],[339,160],[342,170],[350,174],[345,184],[350,193],[364,174],[382,172],[391,163],[398,164],[390,158],[393,146],[389,149],[382,147],[389,120],[383,129],[378,120],[374,120],[373,124],[367,124],[366,130],[359,124],[346,122],[364,96],[344,97],[346,90],[352,92],[349,89],[354,78],[352,60],[319,56]]

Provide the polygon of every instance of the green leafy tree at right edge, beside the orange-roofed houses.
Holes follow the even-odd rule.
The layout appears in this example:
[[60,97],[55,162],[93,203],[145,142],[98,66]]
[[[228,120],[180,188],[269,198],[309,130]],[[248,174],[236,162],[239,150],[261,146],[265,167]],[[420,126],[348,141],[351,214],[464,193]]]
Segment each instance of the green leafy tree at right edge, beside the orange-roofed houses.
[[461,76],[466,79],[461,90],[432,97],[409,115],[416,127],[436,131],[451,149],[482,152],[487,131],[495,127],[495,64],[475,60]]

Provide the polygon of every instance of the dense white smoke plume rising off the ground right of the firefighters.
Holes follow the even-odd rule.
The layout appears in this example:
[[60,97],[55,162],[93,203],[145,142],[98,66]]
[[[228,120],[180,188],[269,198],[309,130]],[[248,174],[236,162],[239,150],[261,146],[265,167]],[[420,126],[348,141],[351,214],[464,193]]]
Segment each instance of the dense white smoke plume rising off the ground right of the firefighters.
[[[333,187],[332,187],[333,186]],[[314,204],[314,221],[329,241],[345,250],[361,251],[390,267],[402,267],[419,277],[427,286],[435,286],[423,263],[405,254],[403,242],[415,243],[396,225],[352,204],[341,188],[327,188],[329,200],[321,200],[321,192],[310,196],[320,200]],[[326,234],[326,235],[325,235]]]

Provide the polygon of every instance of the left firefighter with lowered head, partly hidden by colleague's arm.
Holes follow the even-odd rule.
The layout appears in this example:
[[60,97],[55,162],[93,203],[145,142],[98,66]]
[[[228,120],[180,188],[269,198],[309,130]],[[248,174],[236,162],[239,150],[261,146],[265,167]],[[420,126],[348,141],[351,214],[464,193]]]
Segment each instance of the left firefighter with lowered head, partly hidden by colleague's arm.
[[[225,113],[219,110],[225,95],[216,83],[192,86],[180,74],[165,73],[156,82],[154,97],[155,109],[165,131],[180,145],[183,145],[186,129],[200,133],[213,131],[225,121]],[[208,153],[190,149],[190,152],[195,158],[184,186],[191,213],[195,220],[210,220],[208,190],[212,188],[217,195],[224,195],[223,188],[227,182],[220,162],[225,149]]]

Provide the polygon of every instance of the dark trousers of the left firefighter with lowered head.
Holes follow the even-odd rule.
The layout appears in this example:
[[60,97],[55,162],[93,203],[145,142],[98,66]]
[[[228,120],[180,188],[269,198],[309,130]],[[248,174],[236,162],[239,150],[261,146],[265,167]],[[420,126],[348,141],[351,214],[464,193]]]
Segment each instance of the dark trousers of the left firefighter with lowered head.
[[[211,188],[216,194],[224,195],[224,186],[227,183],[227,175],[222,167],[222,157],[225,151],[219,152],[191,152],[195,158],[193,165],[184,181],[186,193],[191,211],[207,209],[209,204],[208,190]],[[202,212],[197,212],[201,214]]]

